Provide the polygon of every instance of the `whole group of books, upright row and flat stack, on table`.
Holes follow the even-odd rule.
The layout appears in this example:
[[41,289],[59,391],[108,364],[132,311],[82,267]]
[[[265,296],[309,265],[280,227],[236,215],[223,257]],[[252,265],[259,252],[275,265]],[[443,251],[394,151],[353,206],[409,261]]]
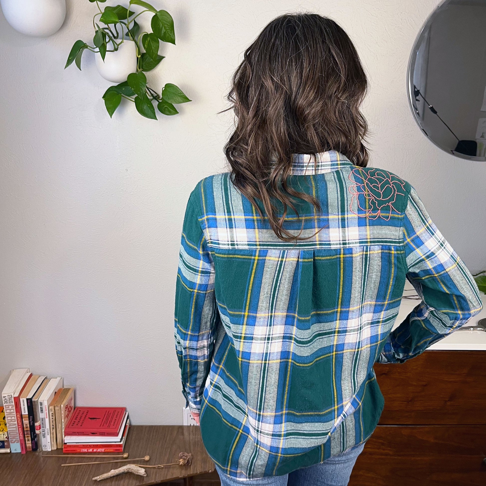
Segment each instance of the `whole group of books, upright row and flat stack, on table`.
[[61,377],[14,369],[2,391],[0,452],[122,452],[130,425],[123,407],[74,407]]

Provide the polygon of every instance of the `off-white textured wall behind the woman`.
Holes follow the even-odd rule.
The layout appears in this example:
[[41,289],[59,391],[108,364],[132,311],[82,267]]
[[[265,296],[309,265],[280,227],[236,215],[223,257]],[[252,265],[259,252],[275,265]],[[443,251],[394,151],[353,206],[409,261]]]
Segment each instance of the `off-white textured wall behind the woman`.
[[230,125],[217,112],[241,52],[286,11],[348,31],[370,78],[373,165],[409,180],[469,268],[486,267],[486,164],[436,148],[407,101],[409,52],[437,0],[153,3],[173,15],[177,45],[163,47],[149,80],[194,100],[159,121],[128,102],[110,120],[89,54],[83,72],[63,70],[74,41],[93,35],[87,0],[67,0],[47,39],[0,16],[0,377],[28,365],[64,376],[78,404],[126,405],[137,424],[181,422],[173,300],[185,204],[224,167]]

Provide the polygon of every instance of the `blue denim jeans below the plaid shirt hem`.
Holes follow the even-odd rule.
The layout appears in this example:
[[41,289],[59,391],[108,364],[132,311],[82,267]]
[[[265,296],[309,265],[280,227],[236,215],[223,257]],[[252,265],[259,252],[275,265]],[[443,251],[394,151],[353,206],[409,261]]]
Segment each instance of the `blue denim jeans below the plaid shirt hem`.
[[221,486],[346,486],[354,463],[363,449],[364,444],[360,444],[308,468],[297,469],[283,476],[266,476],[247,481],[228,476],[218,466],[216,469],[221,479]]

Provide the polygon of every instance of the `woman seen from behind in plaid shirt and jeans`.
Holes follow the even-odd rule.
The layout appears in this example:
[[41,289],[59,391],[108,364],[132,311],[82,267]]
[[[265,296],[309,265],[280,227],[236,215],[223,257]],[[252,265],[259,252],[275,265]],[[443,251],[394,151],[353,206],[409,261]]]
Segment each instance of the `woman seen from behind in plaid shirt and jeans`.
[[[329,18],[284,15],[244,53],[231,172],[192,191],[175,340],[222,485],[346,485],[401,363],[481,300],[415,190],[367,168],[366,76]],[[405,278],[422,302],[391,332]]]

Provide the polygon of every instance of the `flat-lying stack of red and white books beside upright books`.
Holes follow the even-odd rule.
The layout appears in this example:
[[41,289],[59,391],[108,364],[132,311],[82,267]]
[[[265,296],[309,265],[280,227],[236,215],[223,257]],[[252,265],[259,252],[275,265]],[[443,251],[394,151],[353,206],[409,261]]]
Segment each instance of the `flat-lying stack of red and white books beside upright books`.
[[64,431],[63,452],[123,452],[129,426],[124,407],[76,407]]

